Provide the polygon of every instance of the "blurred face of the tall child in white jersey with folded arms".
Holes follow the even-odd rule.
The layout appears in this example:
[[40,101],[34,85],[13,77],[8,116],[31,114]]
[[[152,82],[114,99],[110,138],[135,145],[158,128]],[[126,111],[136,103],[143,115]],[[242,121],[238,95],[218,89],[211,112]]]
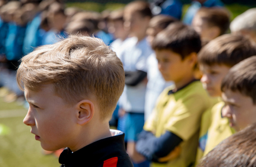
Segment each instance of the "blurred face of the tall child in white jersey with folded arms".
[[150,18],[141,16],[139,12],[125,12],[124,20],[125,28],[138,37],[141,34],[145,34]]

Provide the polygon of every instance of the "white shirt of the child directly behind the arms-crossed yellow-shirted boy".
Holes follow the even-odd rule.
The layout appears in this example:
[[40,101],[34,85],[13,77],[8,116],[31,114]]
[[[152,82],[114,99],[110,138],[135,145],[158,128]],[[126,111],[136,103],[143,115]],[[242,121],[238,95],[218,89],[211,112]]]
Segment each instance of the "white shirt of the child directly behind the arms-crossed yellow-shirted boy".
[[173,85],[173,82],[166,82],[158,70],[158,61],[155,57],[155,53],[152,53],[147,61],[148,66],[148,84],[146,85],[146,97],[145,97],[145,120],[148,119],[149,115],[155,107],[158,96],[162,91]]

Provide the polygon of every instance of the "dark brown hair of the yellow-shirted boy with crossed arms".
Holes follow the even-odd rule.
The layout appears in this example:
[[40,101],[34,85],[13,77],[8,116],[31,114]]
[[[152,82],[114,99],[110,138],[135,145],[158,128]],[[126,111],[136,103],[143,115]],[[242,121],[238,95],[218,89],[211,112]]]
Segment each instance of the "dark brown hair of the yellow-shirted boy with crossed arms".
[[171,50],[181,55],[182,60],[201,49],[200,35],[182,23],[172,23],[158,33],[152,43],[153,50]]

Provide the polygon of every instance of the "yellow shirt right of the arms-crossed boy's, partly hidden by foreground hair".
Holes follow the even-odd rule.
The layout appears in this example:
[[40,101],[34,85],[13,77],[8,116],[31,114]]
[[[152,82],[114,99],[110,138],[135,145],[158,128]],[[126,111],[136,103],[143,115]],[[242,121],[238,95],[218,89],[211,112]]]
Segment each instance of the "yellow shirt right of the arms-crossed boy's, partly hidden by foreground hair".
[[223,106],[224,102],[221,101],[213,107],[211,126],[208,129],[208,137],[203,155],[208,154],[221,141],[235,133],[235,130],[229,126],[229,120],[221,116]]

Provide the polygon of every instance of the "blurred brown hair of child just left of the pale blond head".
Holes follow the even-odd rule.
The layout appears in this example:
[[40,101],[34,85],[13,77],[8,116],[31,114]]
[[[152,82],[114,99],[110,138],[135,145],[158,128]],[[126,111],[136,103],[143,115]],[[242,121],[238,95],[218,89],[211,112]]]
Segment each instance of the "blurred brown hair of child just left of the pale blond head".
[[220,35],[224,35],[229,30],[230,14],[225,8],[202,7],[198,10],[197,14],[206,22],[208,27],[219,27]]

